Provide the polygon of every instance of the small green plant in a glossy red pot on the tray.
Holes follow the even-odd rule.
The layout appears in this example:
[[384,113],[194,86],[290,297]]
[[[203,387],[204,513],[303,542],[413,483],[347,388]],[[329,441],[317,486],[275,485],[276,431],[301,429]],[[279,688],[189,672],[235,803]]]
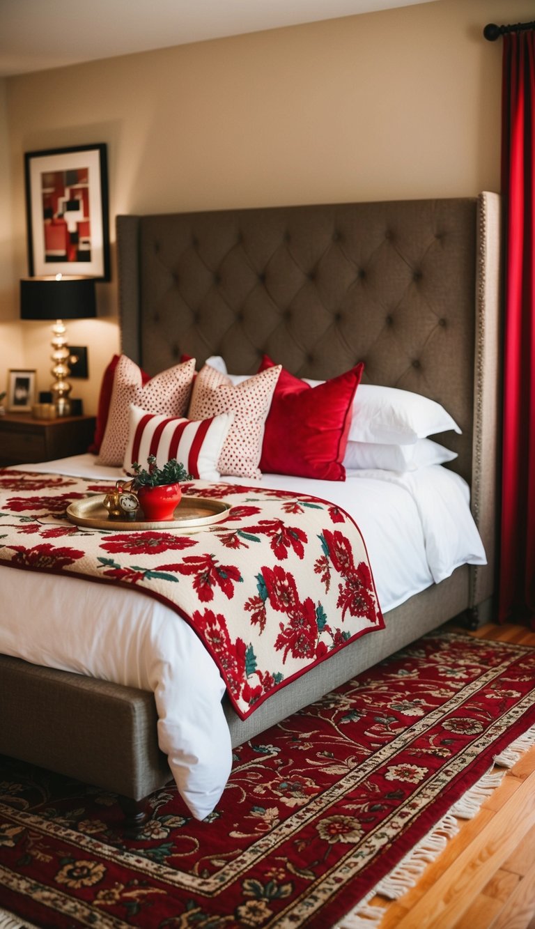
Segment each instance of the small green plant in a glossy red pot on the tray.
[[147,464],[148,468],[137,462],[132,464],[132,490],[137,493],[139,506],[146,519],[173,519],[182,496],[180,481],[190,480],[191,475],[176,458],[170,458],[161,468],[156,464],[155,455],[149,455]]

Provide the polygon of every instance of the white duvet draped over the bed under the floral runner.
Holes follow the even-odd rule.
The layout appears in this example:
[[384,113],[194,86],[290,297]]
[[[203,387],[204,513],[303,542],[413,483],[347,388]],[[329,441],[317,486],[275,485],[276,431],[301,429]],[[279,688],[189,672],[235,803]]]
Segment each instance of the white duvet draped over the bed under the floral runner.
[[[119,468],[95,464],[89,454],[24,469],[122,477]],[[348,471],[345,482],[264,475],[259,483],[330,500],[351,514],[368,549],[383,612],[464,563],[486,563],[468,487],[441,465],[405,474]],[[230,738],[223,680],[188,623],[177,622],[170,608],[150,596],[79,578],[4,567],[0,592],[0,652],[154,692],[158,739],[178,791],[195,818],[206,817],[228,780]]]

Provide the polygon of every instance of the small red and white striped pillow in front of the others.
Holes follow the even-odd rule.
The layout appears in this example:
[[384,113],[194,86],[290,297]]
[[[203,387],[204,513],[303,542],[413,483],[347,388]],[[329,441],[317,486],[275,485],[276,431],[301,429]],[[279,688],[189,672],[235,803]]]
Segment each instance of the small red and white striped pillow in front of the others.
[[132,464],[147,467],[149,455],[156,456],[158,467],[176,458],[192,478],[219,480],[217,460],[234,419],[224,412],[194,422],[183,417],[163,416],[130,405],[130,427],[124,452],[124,471],[133,474]]

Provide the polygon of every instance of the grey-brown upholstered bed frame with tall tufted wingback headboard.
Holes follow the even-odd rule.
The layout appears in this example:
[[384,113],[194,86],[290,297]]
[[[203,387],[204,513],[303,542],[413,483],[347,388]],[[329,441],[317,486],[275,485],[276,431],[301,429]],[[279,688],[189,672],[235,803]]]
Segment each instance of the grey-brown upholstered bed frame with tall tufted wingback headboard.
[[[398,595],[398,602],[392,595],[385,630],[337,651],[247,718],[224,696],[228,744],[254,738],[453,617],[490,617],[500,433],[497,195],[119,216],[117,254],[122,351],[151,375],[183,356],[194,358],[198,368],[215,357],[231,373],[254,375],[268,355],[294,375],[318,382],[363,361],[362,386],[433,399],[462,430],[437,437],[457,455],[437,467],[459,475],[469,488],[486,558],[468,557],[475,563],[456,567],[440,582],[424,582],[417,594]],[[41,470],[82,475],[82,457]],[[114,476],[110,469],[101,474]],[[360,482],[371,481],[370,488],[375,478],[359,475]],[[384,492],[407,479],[417,478],[383,480]],[[266,480],[271,488],[297,487],[296,478]],[[319,490],[325,492],[310,492],[321,496]],[[333,481],[329,490],[336,495],[343,483]],[[7,592],[20,572],[0,572]],[[19,578],[12,604],[41,595],[30,590],[33,580],[28,572],[23,593]],[[72,584],[82,582],[68,579],[67,589],[62,580],[40,578],[43,595],[46,580],[54,581],[54,595],[75,612]],[[100,600],[102,613],[110,602]],[[116,792],[128,821],[143,821],[150,793],[171,777],[159,745],[154,693],[90,676],[84,662],[62,670],[65,665],[56,661],[55,667],[53,656],[41,663],[28,660],[31,650],[2,650],[0,752]],[[195,661],[203,661],[198,652]],[[202,818],[207,808],[201,805],[193,815]]]

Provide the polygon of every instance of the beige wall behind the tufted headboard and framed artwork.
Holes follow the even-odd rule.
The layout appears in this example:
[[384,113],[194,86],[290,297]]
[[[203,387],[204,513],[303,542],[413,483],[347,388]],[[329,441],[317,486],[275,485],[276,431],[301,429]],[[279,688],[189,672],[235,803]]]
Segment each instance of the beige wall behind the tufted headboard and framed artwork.
[[[125,212],[498,190],[502,44],[482,28],[504,7],[532,19],[532,0],[438,0],[9,79],[12,294],[27,271],[27,150],[108,144],[112,237]],[[98,302],[98,321],[69,326],[89,346],[74,388],[87,411],[119,346],[114,281]],[[19,325],[45,388],[46,327]]]

